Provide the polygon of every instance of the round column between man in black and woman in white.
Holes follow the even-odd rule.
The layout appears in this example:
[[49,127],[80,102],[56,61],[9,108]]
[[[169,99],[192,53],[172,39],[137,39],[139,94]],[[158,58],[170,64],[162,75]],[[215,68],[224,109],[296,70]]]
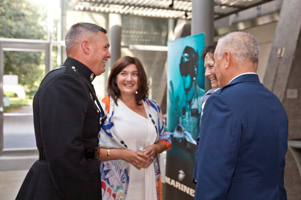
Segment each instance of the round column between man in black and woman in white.
[[116,13],[109,14],[109,42],[110,42],[110,69],[113,64],[121,57],[121,15]]

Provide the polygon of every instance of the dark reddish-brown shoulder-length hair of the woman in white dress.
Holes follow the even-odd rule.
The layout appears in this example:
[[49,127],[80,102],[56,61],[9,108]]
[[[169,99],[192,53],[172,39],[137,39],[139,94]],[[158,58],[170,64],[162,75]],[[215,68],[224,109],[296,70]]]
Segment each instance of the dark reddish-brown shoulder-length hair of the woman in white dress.
[[128,66],[129,64],[135,64],[138,70],[138,93],[136,94],[136,104],[140,106],[141,103],[139,103],[139,101],[148,96],[147,85],[149,85],[149,83],[147,81],[143,65],[138,58],[124,56],[119,58],[114,63],[108,80],[107,93],[114,99],[117,105],[117,99],[120,97],[120,90],[116,84],[116,76],[121,72],[121,70],[124,67]]

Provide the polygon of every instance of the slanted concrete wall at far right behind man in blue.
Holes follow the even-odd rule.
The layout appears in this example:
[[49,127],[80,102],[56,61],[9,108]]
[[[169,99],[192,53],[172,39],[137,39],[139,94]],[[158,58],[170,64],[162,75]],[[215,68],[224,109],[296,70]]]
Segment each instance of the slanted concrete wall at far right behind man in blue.
[[[301,138],[301,1],[283,0],[263,84],[283,103],[289,121],[288,139]],[[279,48],[285,48],[278,58]],[[297,97],[287,98],[287,90],[297,90]],[[284,187],[287,199],[301,199],[301,178],[290,150],[286,154]]]

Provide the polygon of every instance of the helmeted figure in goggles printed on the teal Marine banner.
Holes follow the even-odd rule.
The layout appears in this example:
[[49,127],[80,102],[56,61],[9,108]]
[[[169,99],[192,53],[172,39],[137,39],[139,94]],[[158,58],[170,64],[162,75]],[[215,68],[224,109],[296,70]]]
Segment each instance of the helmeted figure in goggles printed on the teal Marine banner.
[[186,46],[182,52],[179,67],[185,95],[177,94],[174,91],[172,80],[169,82],[170,99],[176,100],[170,107],[173,112],[173,119],[170,123],[174,127],[172,141],[174,145],[190,153],[197,149],[197,142],[191,134],[196,135],[199,132],[204,96],[204,90],[197,83],[199,58],[198,51],[190,46]]

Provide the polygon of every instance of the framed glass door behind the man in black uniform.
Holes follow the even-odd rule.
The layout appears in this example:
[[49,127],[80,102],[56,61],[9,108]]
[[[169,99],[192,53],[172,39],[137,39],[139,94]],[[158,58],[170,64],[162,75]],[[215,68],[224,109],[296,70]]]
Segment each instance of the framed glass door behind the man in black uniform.
[[0,154],[36,154],[32,102],[50,71],[50,45],[14,39],[0,47]]

